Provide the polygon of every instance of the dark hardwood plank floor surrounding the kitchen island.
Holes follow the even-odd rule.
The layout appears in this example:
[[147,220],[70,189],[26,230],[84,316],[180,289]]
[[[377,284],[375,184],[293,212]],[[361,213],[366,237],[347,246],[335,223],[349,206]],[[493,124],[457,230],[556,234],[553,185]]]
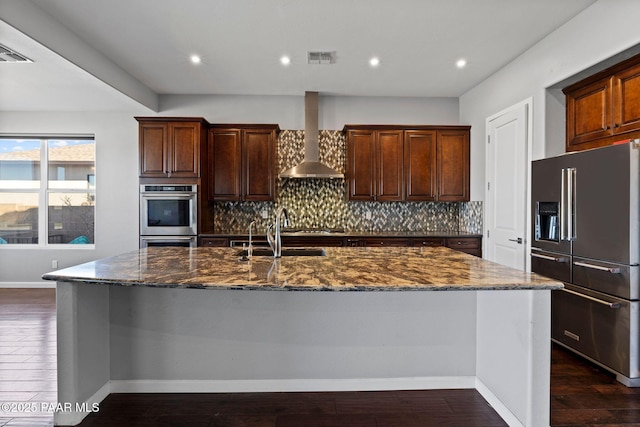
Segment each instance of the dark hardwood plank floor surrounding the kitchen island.
[[[0,403],[55,403],[55,293],[0,289]],[[640,388],[552,346],[552,426],[640,426]],[[5,413],[0,427],[53,425]],[[475,390],[112,394],[81,426],[503,426]]]

